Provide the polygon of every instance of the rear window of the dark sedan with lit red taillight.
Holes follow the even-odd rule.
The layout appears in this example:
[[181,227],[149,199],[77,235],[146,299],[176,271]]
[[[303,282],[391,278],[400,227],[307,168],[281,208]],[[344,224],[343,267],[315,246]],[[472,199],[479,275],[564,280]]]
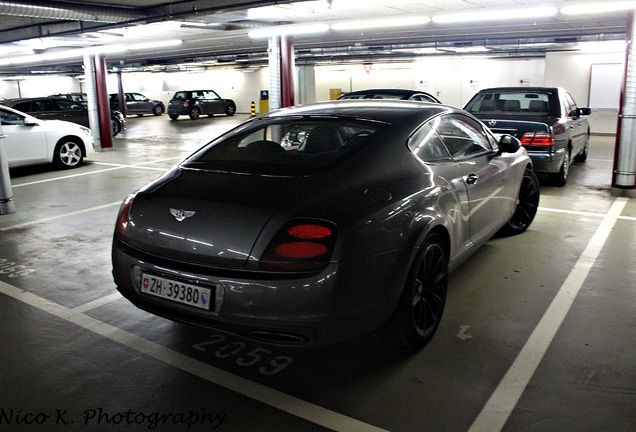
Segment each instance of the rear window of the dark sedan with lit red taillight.
[[480,114],[546,116],[550,113],[549,95],[538,92],[480,93],[466,105],[466,111]]

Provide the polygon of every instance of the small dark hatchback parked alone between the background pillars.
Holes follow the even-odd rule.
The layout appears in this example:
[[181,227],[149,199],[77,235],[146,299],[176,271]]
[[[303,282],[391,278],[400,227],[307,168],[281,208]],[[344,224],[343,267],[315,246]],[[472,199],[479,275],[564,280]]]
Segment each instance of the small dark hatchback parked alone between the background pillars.
[[192,120],[201,115],[212,117],[214,114],[233,116],[236,104],[232,99],[222,99],[214,90],[178,91],[168,102],[168,116],[176,120],[180,115],[190,116]]

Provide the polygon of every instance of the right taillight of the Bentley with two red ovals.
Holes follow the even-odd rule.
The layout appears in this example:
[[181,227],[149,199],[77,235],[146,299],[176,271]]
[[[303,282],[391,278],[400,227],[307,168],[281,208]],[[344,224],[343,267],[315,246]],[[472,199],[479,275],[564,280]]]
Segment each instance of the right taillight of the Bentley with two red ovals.
[[313,271],[329,264],[336,228],[325,221],[293,221],[265,249],[260,267],[268,271]]

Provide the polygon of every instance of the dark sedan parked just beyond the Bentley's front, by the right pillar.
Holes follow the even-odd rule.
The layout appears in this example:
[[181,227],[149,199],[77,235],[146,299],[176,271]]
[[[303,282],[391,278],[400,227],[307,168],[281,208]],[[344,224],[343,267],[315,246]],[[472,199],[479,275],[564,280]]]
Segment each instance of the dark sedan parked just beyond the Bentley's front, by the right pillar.
[[562,88],[497,87],[481,90],[464,107],[495,133],[519,138],[537,173],[564,186],[573,160],[584,162],[590,145],[589,108],[579,108]]

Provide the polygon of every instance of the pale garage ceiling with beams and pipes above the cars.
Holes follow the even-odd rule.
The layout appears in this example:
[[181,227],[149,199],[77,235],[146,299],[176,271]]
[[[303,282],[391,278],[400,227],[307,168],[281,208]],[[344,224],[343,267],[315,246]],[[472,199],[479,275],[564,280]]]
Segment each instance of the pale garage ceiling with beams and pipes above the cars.
[[[408,61],[427,55],[478,51],[499,57],[543,56],[577,49],[579,42],[624,40],[626,12],[526,18],[523,8],[563,7],[586,0],[316,0],[316,1],[3,1],[0,0],[0,61],[29,53],[113,43],[180,39],[181,45],[107,54],[109,66],[130,71],[172,71],[266,64],[267,39],[248,32],[276,24],[329,24],[359,19],[448,12],[510,10],[506,20],[424,25],[374,31],[329,30],[297,35],[297,63]],[[30,41],[27,44],[25,41]],[[37,45],[33,45],[37,43]],[[25,45],[27,45],[25,47]],[[55,45],[55,46],[52,46]],[[82,59],[49,59],[39,64],[0,65],[1,75],[82,72]]]

